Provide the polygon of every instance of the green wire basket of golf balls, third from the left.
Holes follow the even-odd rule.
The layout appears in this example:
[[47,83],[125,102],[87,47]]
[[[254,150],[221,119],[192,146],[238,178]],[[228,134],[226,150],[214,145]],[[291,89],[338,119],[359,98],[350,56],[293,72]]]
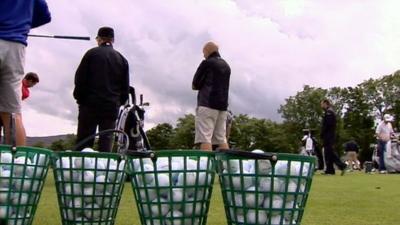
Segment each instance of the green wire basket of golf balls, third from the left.
[[213,152],[128,154],[128,173],[143,225],[205,225],[215,177]]

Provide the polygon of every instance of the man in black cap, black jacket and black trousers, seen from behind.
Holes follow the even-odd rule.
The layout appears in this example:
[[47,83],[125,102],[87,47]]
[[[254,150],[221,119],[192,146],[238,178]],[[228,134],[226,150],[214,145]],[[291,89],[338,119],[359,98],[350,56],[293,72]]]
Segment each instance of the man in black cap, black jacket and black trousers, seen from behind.
[[[74,98],[79,105],[77,143],[99,131],[115,128],[121,104],[128,99],[128,61],[113,48],[114,30],[99,29],[98,47],[90,49],[75,74]],[[93,147],[94,140],[83,147]],[[99,150],[110,151],[112,135],[99,138]]]

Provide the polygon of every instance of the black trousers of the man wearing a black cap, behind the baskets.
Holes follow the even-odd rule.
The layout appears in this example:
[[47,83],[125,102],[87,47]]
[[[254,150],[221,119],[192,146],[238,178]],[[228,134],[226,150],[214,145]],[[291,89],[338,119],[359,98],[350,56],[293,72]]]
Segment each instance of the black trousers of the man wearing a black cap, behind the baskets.
[[[96,133],[107,129],[114,129],[118,116],[118,108],[99,109],[97,107],[79,106],[78,131],[76,143]],[[98,150],[101,152],[110,152],[113,144],[113,134],[100,135]],[[84,143],[78,150],[90,147],[93,148],[94,138]]]

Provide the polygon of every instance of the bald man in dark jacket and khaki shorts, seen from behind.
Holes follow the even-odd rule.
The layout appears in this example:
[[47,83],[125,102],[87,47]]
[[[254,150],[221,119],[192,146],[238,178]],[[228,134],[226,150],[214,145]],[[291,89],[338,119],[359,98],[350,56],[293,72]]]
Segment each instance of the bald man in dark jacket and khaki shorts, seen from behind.
[[198,91],[195,119],[195,144],[201,150],[229,149],[226,140],[229,79],[231,69],[218,52],[214,42],[203,48],[205,60],[201,62],[193,78],[192,89]]

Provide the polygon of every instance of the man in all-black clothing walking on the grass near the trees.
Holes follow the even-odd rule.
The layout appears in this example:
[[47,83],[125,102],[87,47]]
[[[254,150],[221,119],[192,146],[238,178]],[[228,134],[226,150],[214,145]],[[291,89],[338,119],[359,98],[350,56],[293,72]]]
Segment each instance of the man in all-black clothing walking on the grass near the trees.
[[321,139],[324,146],[326,163],[325,174],[335,174],[333,164],[336,164],[342,170],[341,175],[343,176],[346,171],[346,164],[339,159],[339,156],[333,150],[336,136],[336,114],[332,109],[330,101],[327,99],[321,102],[321,107],[325,112],[321,128]]

